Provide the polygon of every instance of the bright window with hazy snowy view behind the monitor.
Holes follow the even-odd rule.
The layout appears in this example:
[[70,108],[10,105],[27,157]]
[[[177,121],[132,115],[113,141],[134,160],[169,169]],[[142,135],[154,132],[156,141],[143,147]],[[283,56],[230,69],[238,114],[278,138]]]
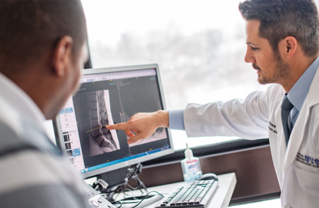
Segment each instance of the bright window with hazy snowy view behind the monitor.
[[[245,21],[239,0],[88,1],[85,11],[93,68],[158,63],[167,109],[245,98],[264,90],[244,62]],[[237,137],[188,138],[171,130],[174,149]],[[196,141],[196,143],[195,143]]]

